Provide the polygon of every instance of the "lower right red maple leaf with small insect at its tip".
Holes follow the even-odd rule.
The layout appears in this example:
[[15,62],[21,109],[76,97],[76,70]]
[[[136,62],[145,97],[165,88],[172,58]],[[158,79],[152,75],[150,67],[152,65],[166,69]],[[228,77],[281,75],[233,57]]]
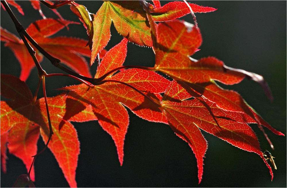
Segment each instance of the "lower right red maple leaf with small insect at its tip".
[[[255,120],[244,113],[222,110],[215,103],[207,101],[206,103],[212,110],[220,126],[218,127],[209,109],[196,98],[187,100],[191,97],[181,85],[177,84],[176,81],[172,81],[162,98],[162,108],[171,128],[180,138],[189,143],[195,154],[199,183],[203,173],[203,157],[207,149],[206,141],[200,133],[199,128],[240,149],[260,155],[273,178],[271,167],[260,151],[258,139],[247,124],[256,123]],[[268,125],[263,119],[260,119],[260,122],[274,133],[284,135]]]

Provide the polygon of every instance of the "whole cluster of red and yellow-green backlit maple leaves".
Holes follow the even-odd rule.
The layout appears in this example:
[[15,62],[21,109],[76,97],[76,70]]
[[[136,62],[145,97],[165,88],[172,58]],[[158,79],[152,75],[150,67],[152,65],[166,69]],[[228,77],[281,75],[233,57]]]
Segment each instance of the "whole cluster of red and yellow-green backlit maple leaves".
[[[23,13],[14,1],[7,2]],[[263,77],[227,67],[214,57],[200,60],[190,57],[201,45],[201,33],[196,24],[178,18],[188,13],[211,12],[216,9],[179,1],[164,6],[159,1],[153,2],[154,5],[145,1],[105,1],[98,12],[92,14],[83,5],[61,1],[60,5],[70,6],[87,29],[89,40],[86,41],[72,37],[51,38],[51,35],[75,22],[64,20],[55,9],[52,10],[59,15],[59,19],[47,19],[39,2],[31,1],[43,19],[31,23],[26,28],[27,33],[44,52],[74,70],[73,76],[83,82],[62,88],[65,92],[51,98],[45,96],[36,100],[37,94],[33,97],[24,82],[35,66],[31,52],[26,48],[25,41],[1,28],[1,41],[14,52],[22,68],[20,79],[1,74],[1,96],[9,99],[1,101],[1,164],[4,172],[8,148],[9,153],[22,159],[34,181],[31,156],[37,154],[39,135],[47,143],[53,130],[48,147],[69,185],[76,187],[75,170],[80,149],[77,132],[71,124],[73,121],[98,120],[115,141],[119,162],[123,165],[124,140],[129,125],[127,107],[145,120],[168,124],[177,136],[189,144],[197,159],[199,183],[207,149],[201,130],[240,149],[257,153],[273,178],[272,169],[260,150],[257,136],[248,124],[258,124],[263,133],[262,126],[265,126],[275,134],[284,134],[265,122],[237,92],[225,90],[215,82],[231,85],[244,78],[251,79],[258,82],[272,100]],[[48,7],[58,7],[50,1],[42,3]],[[110,40],[112,21],[124,38],[107,52],[104,48]],[[128,41],[152,47],[155,66],[123,66]],[[31,41],[29,43],[34,45],[35,56],[41,62],[43,51]],[[99,62],[94,78],[91,78],[88,63],[83,56],[90,57],[90,66],[95,59]],[[164,73],[170,80],[157,72]],[[39,77],[42,76],[63,75],[41,73]]]

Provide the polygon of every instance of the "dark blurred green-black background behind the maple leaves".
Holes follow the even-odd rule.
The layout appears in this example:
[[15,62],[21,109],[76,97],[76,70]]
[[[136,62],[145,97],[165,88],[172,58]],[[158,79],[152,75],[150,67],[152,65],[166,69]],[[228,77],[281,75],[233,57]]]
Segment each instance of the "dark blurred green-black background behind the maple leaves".
[[[18,1],[25,16],[12,7],[16,17],[26,28],[41,19],[28,1]],[[96,13],[101,1],[81,1],[92,13]],[[167,3],[161,2],[162,5]],[[203,43],[193,58],[215,56],[227,66],[255,72],[264,76],[273,92],[274,102],[265,96],[259,84],[243,80],[235,86],[223,88],[238,91],[243,98],[274,128],[286,135],[286,1],[195,1],[197,5],[218,10],[196,13]],[[46,17],[55,14],[44,7]],[[58,9],[65,19],[78,21],[69,6]],[[191,15],[182,17],[193,23]],[[6,11],[1,8],[1,27],[17,33]],[[66,35],[87,39],[82,25],[69,25],[57,36]],[[16,34],[19,36],[18,34]],[[112,48],[123,38],[111,26],[111,40],[106,49]],[[56,35],[55,35],[56,36]],[[20,76],[20,66],[1,42],[1,73]],[[125,65],[154,66],[151,48],[128,43]],[[61,73],[46,59],[41,66],[47,73]],[[92,66],[95,74],[96,65]],[[78,84],[72,79],[53,77],[46,79],[47,95],[55,96],[63,86]],[[38,83],[36,68],[26,82],[34,94]],[[42,97],[42,91],[38,98]],[[261,150],[269,150],[275,156],[277,170],[273,169],[271,181],[269,169],[255,153],[238,149],[227,142],[203,132],[208,141],[205,154],[203,180],[198,185],[197,164],[189,145],[174,134],[166,124],[148,122],[129,111],[130,125],[125,137],[125,157],[121,167],[113,139],[97,121],[74,123],[81,143],[76,181],[78,187],[286,187],[286,136],[278,136],[265,128],[275,150],[256,124]],[[44,147],[40,138],[38,148]],[[11,187],[20,174],[27,173],[22,161],[8,155],[7,173],[1,171],[1,187]],[[57,161],[47,149],[35,161],[36,187],[68,187]]]

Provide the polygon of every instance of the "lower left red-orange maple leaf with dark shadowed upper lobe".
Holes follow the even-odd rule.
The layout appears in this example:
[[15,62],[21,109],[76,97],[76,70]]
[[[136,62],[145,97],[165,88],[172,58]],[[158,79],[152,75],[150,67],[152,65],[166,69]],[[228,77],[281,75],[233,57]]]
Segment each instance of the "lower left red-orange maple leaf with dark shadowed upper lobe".
[[[32,93],[23,81],[15,76],[3,74],[1,74],[1,96],[10,99],[9,101],[1,101],[1,139],[4,139],[7,134],[5,143],[8,142],[9,153],[19,157],[29,171],[33,160],[31,156],[37,153],[39,134],[45,143],[49,136],[44,98],[34,102]],[[91,108],[83,110],[78,108],[79,105],[68,106],[77,116],[73,117],[73,114],[67,114],[65,110],[66,100],[65,93],[47,98],[54,132],[48,147],[57,159],[69,185],[76,187],[75,170],[79,155],[79,141],[75,128],[68,120],[80,122],[79,119],[83,117],[86,121],[96,120],[96,117]],[[62,128],[59,131],[61,123]],[[6,151],[2,151],[5,143],[2,143],[1,140],[1,160],[5,159]],[[30,177],[33,181],[35,180],[34,166],[32,166]]]

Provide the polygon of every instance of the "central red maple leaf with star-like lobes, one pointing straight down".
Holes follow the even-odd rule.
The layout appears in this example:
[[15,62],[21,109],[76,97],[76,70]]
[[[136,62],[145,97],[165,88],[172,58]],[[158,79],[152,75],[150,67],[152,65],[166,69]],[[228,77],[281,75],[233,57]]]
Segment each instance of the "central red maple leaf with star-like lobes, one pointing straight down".
[[[121,67],[127,54],[127,39],[110,49],[98,67],[95,78],[106,74],[112,69]],[[110,80],[110,81],[109,81]],[[115,82],[113,82],[115,81]],[[154,122],[167,123],[160,108],[153,105],[139,92],[124,85],[129,84],[153,98],[158,104],[156,96],[165,91],[169,81],[153,71],[128,69],[105,78],[102,85],[89,88],[85,84],[64,88],[70,90],[68,96],[85,106],[90,105],[99,124],[115,141],[120,164],[123,164],[123,145],[129,125],[127,106],[139,117]],[[77,100],[77,101],[76,101]],[[123,106],[124,105],[124,106]]]

